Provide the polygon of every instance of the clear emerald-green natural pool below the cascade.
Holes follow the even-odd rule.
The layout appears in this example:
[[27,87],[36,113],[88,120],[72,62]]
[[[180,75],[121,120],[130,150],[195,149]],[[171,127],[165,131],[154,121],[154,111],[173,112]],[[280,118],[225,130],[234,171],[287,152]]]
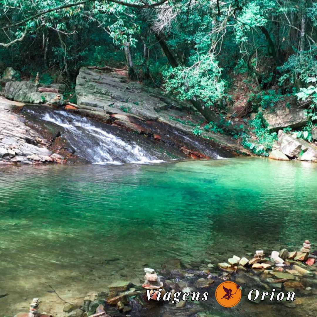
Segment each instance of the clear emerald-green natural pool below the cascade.
[[[317,165],[259,158],[0,169],[0,309],[139,283],[166,261],[298,249],[317,233]],[[313,249],[314,245],[313,245]]]

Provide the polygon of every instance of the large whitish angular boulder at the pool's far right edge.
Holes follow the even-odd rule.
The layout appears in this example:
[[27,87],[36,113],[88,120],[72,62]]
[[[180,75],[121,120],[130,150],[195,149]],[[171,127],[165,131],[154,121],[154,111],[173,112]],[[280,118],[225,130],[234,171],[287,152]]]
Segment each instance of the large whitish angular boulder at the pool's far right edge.
[[313,144],[296,139],[282,130],[278,132],[278,143],[281,152],[290,158],[317,162],[317,147]]

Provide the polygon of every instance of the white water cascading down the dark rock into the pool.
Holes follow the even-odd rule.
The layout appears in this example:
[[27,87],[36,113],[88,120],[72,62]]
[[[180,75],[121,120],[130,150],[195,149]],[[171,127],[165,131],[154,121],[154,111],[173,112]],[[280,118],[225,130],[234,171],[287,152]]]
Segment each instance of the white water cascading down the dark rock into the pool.
[[[34,113],[32,110],[28,112]],[[54,110],[41,114],[44,121],[61,126],[64,137],[76,154],[94,164],[159,163],[163,162],[140,148],[134,141],[121,139],[92,120],[66,111]]]

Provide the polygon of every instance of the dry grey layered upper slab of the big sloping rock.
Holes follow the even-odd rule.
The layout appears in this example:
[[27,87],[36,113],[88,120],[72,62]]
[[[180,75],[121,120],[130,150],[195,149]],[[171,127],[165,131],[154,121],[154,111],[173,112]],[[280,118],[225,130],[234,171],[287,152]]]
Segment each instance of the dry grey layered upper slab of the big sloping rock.
[[[117,73],[81,68],[76,81],[77,104],[108,113],[130,113],[144,120],[168,119],[176,114],[195,113],[195,109],[163,94],[160,89],[128,82]],[[167,115],[168,113],[168,115]]]

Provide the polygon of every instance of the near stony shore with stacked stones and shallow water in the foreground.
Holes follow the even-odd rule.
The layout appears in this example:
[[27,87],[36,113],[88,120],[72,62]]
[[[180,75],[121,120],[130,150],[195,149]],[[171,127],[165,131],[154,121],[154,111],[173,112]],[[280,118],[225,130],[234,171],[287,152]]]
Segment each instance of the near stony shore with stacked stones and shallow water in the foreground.
[[[208,292],[207,301],[180,300],[170,301],[147,300],[147,285],[135,285],[130,281],[117,281],[110,284],[102,292],[90,292],[81,298],[59,298],[59,305],[54,312],[45,312],[38,316],[55,317],[120,317],[120,316],[218,316],[227,310],[221,307],[214,298],[217,286],[223,281],[234,281],[242,288],[242,299],[232,307],[230,313],[244,316],[314,316],[314,300],[316,298],[317,265],[316,251],[311,252],[309,241],[304,242],[301,250],[288,252],[287,249],[272,251],[265,256],[262,250],[245,256],[233,256],[228,263],[212,263],[210,260],[193,261],[183,264],[179,260],[171,260],[154,270],[145,268],[145,283],[159,285],[166,292]],[[248,256],[251,259],[246,258]],[[153,277],[153,278],[152,278]],[[150,281],[150,282],[149,282]],[[144,283],[144,282],[143,282]],[[275,292],[275,298],[270,301],[260,298],[249,301],[247,294],[252,289],[261,292]],[[277,300],[278,292],[294,292],[295,300]],[[49,307],[43,302],[42,307]],[[44,308],[45,309],[45,308]],[[42,312],[42,310],[41,310]],[[27,313],[19,313],[15,317],[27,317]]]

